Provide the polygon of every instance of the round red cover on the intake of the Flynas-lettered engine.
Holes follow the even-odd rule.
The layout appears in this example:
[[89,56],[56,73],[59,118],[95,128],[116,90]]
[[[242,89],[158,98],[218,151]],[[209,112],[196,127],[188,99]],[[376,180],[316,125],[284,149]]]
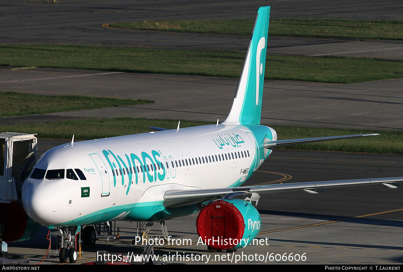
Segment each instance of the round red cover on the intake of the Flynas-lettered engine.
[[231,249],[241,240],[245,222],[241,212],[227,201],[208,203],[196,220],[197,234],[210,248]]

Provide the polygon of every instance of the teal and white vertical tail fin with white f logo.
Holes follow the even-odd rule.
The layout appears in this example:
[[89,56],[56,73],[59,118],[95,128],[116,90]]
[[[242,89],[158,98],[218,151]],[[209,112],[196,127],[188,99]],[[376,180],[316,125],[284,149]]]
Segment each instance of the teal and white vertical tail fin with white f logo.
[[222,124],[260,124],[270,6],[258,10],[231,111]]

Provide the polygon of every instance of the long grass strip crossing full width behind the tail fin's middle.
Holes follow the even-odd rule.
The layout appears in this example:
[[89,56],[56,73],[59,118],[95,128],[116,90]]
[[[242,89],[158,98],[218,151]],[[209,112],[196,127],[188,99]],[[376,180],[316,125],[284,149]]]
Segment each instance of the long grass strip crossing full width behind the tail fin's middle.
[[[239,52],[152,50],[96,46],[0,45],[0,65],[239,77]],[[274,56],[266,59],[265,79],[356,83],[403,77],[402,60]]]

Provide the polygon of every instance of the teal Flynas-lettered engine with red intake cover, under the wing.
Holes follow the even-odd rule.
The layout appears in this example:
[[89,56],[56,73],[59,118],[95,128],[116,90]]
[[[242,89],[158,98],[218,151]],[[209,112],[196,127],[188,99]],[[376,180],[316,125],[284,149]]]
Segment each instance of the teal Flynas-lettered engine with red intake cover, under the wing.
[[197,234],[209,248],[237,249],[252,243],[261,227],[258,210],[242,199],[208,203],[196,220]]

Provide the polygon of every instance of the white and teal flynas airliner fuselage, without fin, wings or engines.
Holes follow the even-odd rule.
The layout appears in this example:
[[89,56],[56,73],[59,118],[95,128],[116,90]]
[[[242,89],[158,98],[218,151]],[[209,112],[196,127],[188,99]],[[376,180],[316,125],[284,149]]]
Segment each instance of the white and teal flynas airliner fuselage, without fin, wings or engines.
[[192,214],[195,205],[165,208],[164,193],[240,186],[270,154],[264,141],[276,137],[262,125],[219,124],[60,145],[24,183],[24,208],[54,226]]

